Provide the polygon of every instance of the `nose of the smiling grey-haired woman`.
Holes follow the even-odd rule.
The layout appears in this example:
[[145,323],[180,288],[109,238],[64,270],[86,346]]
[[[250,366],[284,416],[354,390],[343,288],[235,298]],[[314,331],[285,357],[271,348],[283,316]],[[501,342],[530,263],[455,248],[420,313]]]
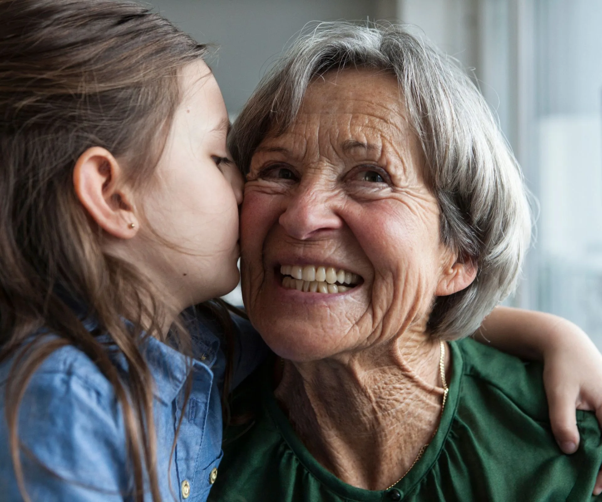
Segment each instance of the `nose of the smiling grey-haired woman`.
[[320,231],[341,228],[343,221],[335,211],[336,204],[336,195],[329,190],[299,187],[285,202],[278,222],[291,237],[310,239]]

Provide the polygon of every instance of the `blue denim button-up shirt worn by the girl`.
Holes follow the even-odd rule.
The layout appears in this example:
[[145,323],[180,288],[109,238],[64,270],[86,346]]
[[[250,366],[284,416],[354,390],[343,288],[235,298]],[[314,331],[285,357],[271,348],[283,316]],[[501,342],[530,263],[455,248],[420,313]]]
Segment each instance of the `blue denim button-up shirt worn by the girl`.
[[[261,362],[267,348],[248,321],[232,318],[236,327],[235,386]],[[192,391],[185,408],[185,356],[154,338],[148,340],[145,351],[155,381],[157,472],[164,501],[205,501],[214,469],[222,459],[221,392],[226,358],[216,325],[208,319],[196,321],[191,330],[196,359],[188,365],[193,373]],[[5,386],[11,364],[9,360],[0,366],[0,500],[6,502],[22,500],[5,420]],[[119,359],[117,365],[125,369],[125,362]],[[77,348],[55,351],[36,371],[20,406],[18,434],[25,448],[59,476],[22,454],[25,488],[31,500],[131,500],[126,495],[131,477],[121,409],[107,378]],[[151,500],[149,494],[145,500]]]

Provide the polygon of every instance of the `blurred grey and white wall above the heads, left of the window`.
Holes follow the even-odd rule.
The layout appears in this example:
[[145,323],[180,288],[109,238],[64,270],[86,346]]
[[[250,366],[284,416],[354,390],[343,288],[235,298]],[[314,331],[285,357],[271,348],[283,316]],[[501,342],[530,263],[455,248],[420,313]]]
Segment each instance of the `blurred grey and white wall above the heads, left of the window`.
[[[235,115],[265,69],[315,20],[403,19],[476,67],[476,0],[150,0],[199,42],[215,43],[212,67]],[[502,4],[504,2],[501,2]]]

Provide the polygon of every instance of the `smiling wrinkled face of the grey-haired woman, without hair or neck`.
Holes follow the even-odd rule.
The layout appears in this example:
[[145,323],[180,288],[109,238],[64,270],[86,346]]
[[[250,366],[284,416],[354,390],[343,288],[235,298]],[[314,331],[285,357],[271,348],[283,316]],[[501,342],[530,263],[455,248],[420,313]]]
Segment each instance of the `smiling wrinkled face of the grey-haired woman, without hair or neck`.
[[[454,260],[405,116],[393,75],[330,72],[309,86],[291,127],[253,155],[243,297],[280,356],[323,359],[426,327]],[[342,292],[328,289],[333,281]]]

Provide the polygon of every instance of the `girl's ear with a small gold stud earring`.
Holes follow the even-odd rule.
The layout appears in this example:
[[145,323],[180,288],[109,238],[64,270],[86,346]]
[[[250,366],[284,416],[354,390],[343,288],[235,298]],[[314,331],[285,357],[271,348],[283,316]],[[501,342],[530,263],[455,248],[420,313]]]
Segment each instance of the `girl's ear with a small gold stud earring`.
[[124,189],[123,171],[111,152],[93,146],[73,169],[75,193],[92,219],[107,233],[131,239],[138,232],[132,194]]

